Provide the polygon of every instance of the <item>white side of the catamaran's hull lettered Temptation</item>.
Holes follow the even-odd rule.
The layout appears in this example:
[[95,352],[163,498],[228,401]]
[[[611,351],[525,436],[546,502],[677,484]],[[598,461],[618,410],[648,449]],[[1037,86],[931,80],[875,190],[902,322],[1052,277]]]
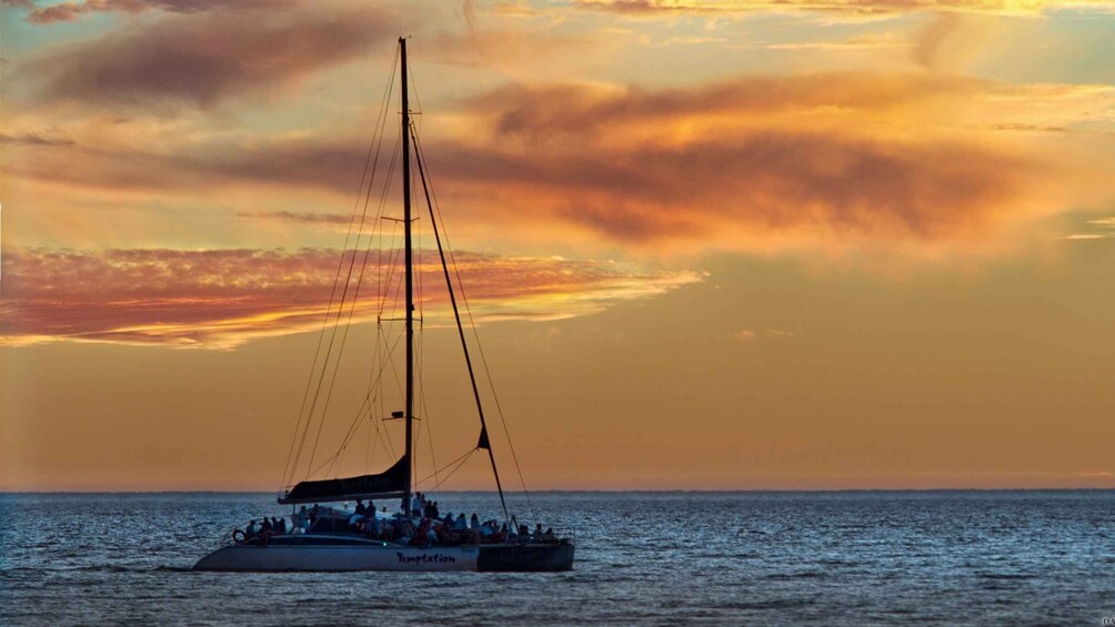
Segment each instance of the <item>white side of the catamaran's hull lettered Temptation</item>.
[[194,565],[194,570],[477,570],[478,556],[479,549],[476,547],[419,549],[395,546],[258,547],[240,545],[224,547],[203,557]]

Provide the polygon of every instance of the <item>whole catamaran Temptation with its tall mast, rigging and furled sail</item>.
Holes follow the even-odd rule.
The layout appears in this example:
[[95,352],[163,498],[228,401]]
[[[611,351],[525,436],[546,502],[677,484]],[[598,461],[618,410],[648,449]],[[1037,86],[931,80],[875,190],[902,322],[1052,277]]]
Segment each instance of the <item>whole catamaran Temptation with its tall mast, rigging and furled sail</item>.
[[[298,449],[299,454],[293,455],[293,463],[288,459],[288,474],[283,479],[284,488],[280,491],[279,503],[289,504],[292,508],[291,531],[285,528],[281,530],[268,530],[258,532],[254,529],[245,532],[236,529],[225,537],[223,546],[212,553],[203,557],[194,566],[195,570],[231,570],[231,571],[347,571],[347,570],[482,570],[482,571],[559,571],[573,568],[574,541],[568,533],[540,533],[537,527],[533,533],[523,532],[525,526],[520,526],[517,520],[507,510],[504,498],[503,484],[500,481],[500,473],[496,468],[495,454],[492,451],[492,443],[488,439],[487,421],[484,414],[484,404],[481,401],[481,392],[477,388],[476,374],[473,371],[473,361],[468,351],[464,325],[457,297],[454,293],[454,285],[450,278],[450,265],[446,261],[445,248],[442,237],[438,234],[437,218],[435,217],[435,203],[430,202],[430,187],[428,183],[427,166],[421,154],[420,144],[416,127],[413,124],[413,111],[409,107],[409,92],[407,85],[407,41],[399,38],[398,47],[399,74],[400,74],[400,98],[401,98],[401,178],[403,178],[403,217],[398,223],[403,225],[403,291],[404,291],[404,316],[403,344],[406,353],[405,382],[404,382],[404,410],[391,412],[391,418],[386,420],[401,420],[405,432],[405,450],[403,455],[386,470],[376,474],[360,474],[355,477],[333,477],[329,479],[309,479],[312,469],[311,461],[307,466],[307,478],[294,484],[288,483],[288,478],[294,476],[299,467],[299,454],[306,435],[309,432],[313,406],[317,403],[317,392],[313,394],[313,403],[310,404],[310,414],[303,423],[303,415],[300,413],[299,423],[295,427],[294,440],[291,443],[292,453]],[[394,82],[394,78],[390,82]],[[390,85],[390,84],[389,84]],[[387,102],[390,91],[384,101],[381,119],[385,120]],[[380,136],[381,141],[381,136]],[[375,137],[372,139],[375,145]],[[411,159],[411,146],[414,146],[414,159]],[[378,153],[377,153],[378,155]],[[371,150],[369,149],[369,160]],[[378,157],[377,157],[378,160]],[[416,497],[415,470],[415,268],[414,268],[414,234],[413,224],[415,216],[411,208],[411,160],[418,166],[421,190],[426,205],[429,208],[430,222],[433,224],[434,239],[440,257],[440,266],[448,288],[449,303],[452,304],[457,332],[460,337],[464,361],[467,365],[472,391],[476,401],[476,409],[479,417],[479,438],[476,448],[473,450],[486,450],[491,460],[492,471],[495,478],[495,486],[500,494],[500,502],[503,507],[505,523],[502,528],[494,525],[484,533],[473,529],[454,528],[452,525],[438,526],[440,533],[434,532],[435,525],[432,523],[430,512],[423,511],[421,506],[415,507],[419,501]],[[375,176],[375,168],[372,169]],[[366,166],[367,174],[367,166]],[[371,179],[369,179],[368,190],[370,197]],[[361,190],[363,183],[361,182]],[[385,187],[386,196],[386,187]],[[359,206],[359,202],[358,202]],[[365,212],[367,203],[365,204]],[[356,210],[353,210],[353,218]],[[392,219],[392,218],[384,218]],[[363,214],[361,214],[360,225],[363,225]],[[359,234],[359,228],[357,233]],[[359,235],[358,239],[359,242]],[[346,251],[348,242],[346,242]],[[342,252],[343,265],[345,255]],[[452,255],[452,253],[450,253]],[[367,255],[365,257],[367,259]],[[356,264],[356,249],[352,251],[351,263]],[[350,266],[350,272],[351,272]],[[360,275],[362,276],[362,267]],[[338,277],[341,272],[338,270]],[[458,275],[459,276],[459,275]],[[348,288],[346,278],[345,288],[341,293],[340,307],[336,311],[336,319],[340,321],[341,310],[346,302]],[[357,283],[357,286],[359,283]],[[334,284],[334,292],[336,292]],[[352,310],[356,308],[356,295],[352,296]],[[332,311],[332,310],[330,310]],[[327,312],[327,319],[330,315]],[[336,330],[336,327],[334,327]],[[324,327],[322,327],[324,336]],[[330,347],[332,342],[330,342]],[[343,345],[343,344],[342,344]],[[378,346],[378,344],[377,344]],[[319,350],[321,342],[319,339]],[[328,352],[326,363],[328,363]],[[338,357],[339,359],[339,357]],[[314,363],[317,364],[317,354]],[[322,366],[322,380],[326,368]],[[313,380],[313,369],[311,369],[311,382]],[[334,370],[336,373],[336,370]],[[330,383],[330,389],[331,389]],[[321,382],[318,383],[318,390]],[[310,385],[307,386],[309,398]],[[397,405],[396,405],[397,406]],[[303,410],[306,401],[303,399]],[[322,417],[322,421],[323,421]],[[301,431],[300,431],[301,430]],[[299,433],[301,432],[301,437]],[[320,427],[319,431],[320,433]],[[295,441],[300,441],[295,447]],[[342,444],[343,447],[343,444]],[[343,449],[342,449],[343,450]],[[289,455],[290,457],[290,455]],[[330,469],[332,469],[330,464]],[[399,502],[396,510],[382,508],[377,511],[375,506],[370,509],[362,509],[362,500],[385,499],[391,502]],[[398,499],[395,501],[394,499]],[[357,509],[350,509],[348,503],[357,502]],[[312,504],[312,509],[307,509]],[[300,509],[295,509],[300,508]],[[439,521],[438,521],[439,522]],[[285,527],[285,526],[284,526]]]

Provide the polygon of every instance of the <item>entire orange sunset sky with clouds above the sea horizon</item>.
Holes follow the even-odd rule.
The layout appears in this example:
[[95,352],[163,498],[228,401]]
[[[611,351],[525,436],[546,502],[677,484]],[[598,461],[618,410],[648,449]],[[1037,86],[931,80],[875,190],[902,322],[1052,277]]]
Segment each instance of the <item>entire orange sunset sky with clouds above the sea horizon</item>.
[[1115,1],[2,0],[0,490],[279,487],[399,36],[530,488],[1115,488]]

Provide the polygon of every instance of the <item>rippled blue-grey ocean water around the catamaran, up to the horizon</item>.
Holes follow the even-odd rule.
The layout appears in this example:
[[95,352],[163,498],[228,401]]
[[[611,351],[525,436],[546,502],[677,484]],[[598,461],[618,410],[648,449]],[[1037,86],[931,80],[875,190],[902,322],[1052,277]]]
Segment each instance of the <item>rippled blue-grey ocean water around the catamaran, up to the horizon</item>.
[[[496,513],[489,493],[442,511]],[[8,625],[1103,625],[1115,491],[536,493],[561,574],[214,574],[271,494],[0,496]],[[522,499],[515,509],[526,512]],[[530,513],[523,517],[533,526]]]

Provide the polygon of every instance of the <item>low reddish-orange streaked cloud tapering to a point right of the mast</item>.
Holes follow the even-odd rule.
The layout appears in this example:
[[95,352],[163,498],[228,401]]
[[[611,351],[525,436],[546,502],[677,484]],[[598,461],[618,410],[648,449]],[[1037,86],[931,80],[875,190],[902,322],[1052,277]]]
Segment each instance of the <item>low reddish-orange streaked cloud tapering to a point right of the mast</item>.
[[[396,255],[387,251],[385,255]],[[351,259],[352,253],[348,254]],[[253,337],[320,329],[330,310],[339,251],[45,251],[3,256],[3,343],[56,340],[226,349]],[[357,268],[362,254],[357,255]],[[435,253],[417,272],[427,320],[445,316],[447,295]],[[610,262],[458,253],[481,322],[558,320],[665,293],[700,281],[691,272],[640,272]],[[372,257],[375,263],[375,256]],[[382,294],[368,270],[355,320],[374,320]],[[349,295],[357,292],[353,284]],[[342,282],[343,283],[343,282]],[[348,307],[343,316],[348,316]],[[447,319],[446,319],[447,320]]]

